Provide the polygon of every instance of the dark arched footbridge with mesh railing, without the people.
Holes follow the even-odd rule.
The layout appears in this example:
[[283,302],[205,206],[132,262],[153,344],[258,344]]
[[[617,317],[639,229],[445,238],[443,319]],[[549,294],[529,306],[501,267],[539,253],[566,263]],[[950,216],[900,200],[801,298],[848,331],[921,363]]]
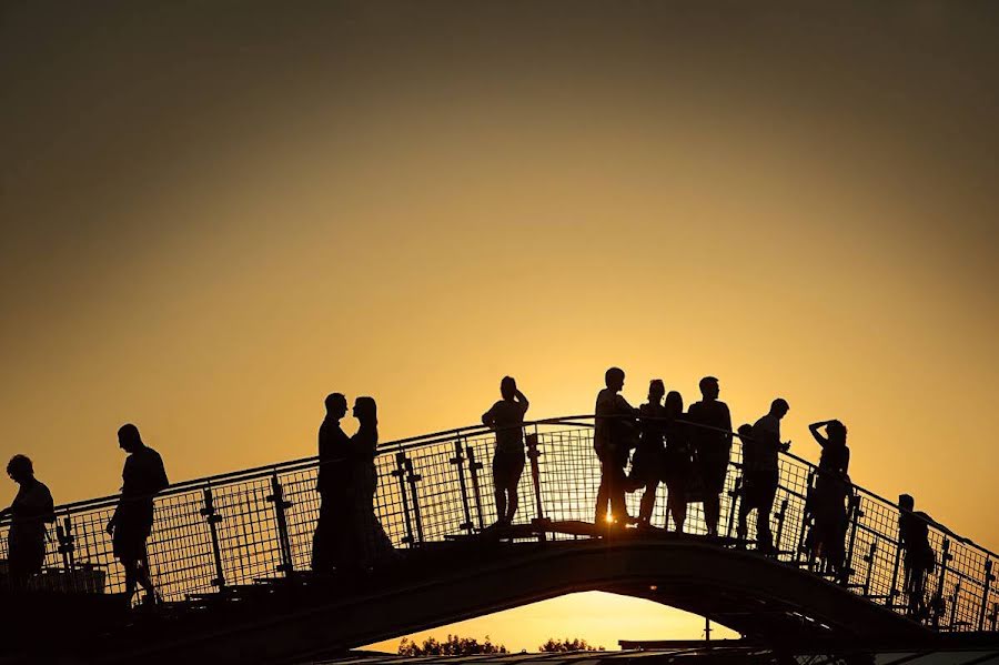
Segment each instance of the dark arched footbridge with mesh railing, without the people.
[[[315,459],[171,486],[157,497],[150,566],[163,603],[127,608],[104,532],[117,497],[57,508],[44,573],[2,593],[4,655],[78,662],[296,662],[578,591],[678,607],[767,648],[926,647],[993,643],[992,561],[930,525],[929,616],[907,616],[898,507],[855,487],[848,576],[807,546],[816,468],[780,459],[771,515],[777,554],[737,542],[740,446],[733,445],[718,537],[699,504],[678,534],[659,487],[655,528],[594,525],[599,465],[592,419],[525,425],[528,472],[515,523],[495,527],[487,465],[494,435],[465,427],[385,444],[375,513],[394,552],[363,570],[310,571],[319,513]],[[638,501],[638,495],[628,501]],[[630,506],[637,512],[637,505]],[[754,524],[750,517],[750,533]],[[6,530],[7,527],[2,527]],[[6,535],[6,534],[0,534]],[[6,546],[6,537],[0,547]],[[0,557],[3,553],[0,552]]]

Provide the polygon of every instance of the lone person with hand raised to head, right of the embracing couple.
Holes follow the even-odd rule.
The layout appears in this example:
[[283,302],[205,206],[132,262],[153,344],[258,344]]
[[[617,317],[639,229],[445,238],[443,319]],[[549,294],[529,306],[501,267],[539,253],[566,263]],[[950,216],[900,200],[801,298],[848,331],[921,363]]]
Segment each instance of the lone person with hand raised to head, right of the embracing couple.
[[496,491],[496,517],[501,524],[513,522],[517,513],[517,485],[524,473],[524,414],[527,397],[517,390],[513,376],[500,381],[503,397],[482,414],[482,423],[496,432],[493,454],[493,486]]

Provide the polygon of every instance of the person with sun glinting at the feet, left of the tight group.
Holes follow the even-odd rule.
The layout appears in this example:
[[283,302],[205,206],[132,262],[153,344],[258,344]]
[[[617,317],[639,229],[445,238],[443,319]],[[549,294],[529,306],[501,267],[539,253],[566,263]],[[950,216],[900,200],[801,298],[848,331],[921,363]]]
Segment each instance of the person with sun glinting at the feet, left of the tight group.
[[[620,394],[624,370],[610,367],[604,374],[607,387],[597,394],[593,449],[601,461],[601,487],[597,491],[595,524],[605,521],[627,524],[632,521],[625,505],[625,466],[634,441],[634,419],[638,411]],[[607,505],[610,512],[607,512]]]

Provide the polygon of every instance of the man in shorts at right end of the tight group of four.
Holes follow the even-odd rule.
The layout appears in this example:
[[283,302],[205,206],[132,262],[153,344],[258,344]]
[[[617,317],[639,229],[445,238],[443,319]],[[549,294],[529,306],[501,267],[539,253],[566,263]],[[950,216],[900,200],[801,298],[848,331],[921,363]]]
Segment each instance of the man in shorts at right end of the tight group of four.
[[731,415],[728,405],[718,401],[718,380],[705,376],[700,380],[700,402],[690,404],[688,420],[700,425],[693,427],[694,455],[697,472],[704,485],[704,521],[708,535],[718,535],[718,517],[722,511],[722,490],[728,472],[728,454],[731,450]]

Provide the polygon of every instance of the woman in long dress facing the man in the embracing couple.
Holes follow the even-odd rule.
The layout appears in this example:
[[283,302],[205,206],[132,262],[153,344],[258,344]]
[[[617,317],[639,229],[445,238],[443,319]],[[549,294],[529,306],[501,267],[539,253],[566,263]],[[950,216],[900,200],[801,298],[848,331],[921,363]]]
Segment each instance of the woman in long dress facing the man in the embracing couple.
[[351,565],[367,567],[392,552],[392,542],[375,515],[379,486],[375,456],[379,445],[379,413],[372,397],[354,401],[357,432],[350,440],[350,550]]

